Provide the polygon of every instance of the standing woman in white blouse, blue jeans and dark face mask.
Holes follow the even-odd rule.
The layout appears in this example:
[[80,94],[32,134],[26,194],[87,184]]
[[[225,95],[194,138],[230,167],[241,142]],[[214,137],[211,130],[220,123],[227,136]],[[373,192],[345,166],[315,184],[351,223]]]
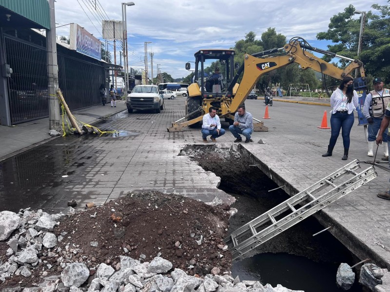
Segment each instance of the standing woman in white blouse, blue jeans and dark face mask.
[[328,151],[322,156],[332,156],[334,145],[341,131],[344,145],[344,156],[342,160],[348,159],[348,150],[350,149],[350,133],[355,120],[353,111],[358,106],[358,96],[353,90],[353,78],[344,77],[338,89],[331,95],[331,140],[329,141]]

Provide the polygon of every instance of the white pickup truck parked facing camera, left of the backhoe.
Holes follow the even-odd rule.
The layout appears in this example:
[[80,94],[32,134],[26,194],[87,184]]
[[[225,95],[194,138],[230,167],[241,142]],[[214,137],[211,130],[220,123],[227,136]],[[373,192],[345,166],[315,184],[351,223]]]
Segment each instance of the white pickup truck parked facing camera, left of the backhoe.
[[133,110],[156,110],[160,113],[164,109],[163,93],[157,85],[136,85],[127,95],[126,107],[129,113]]

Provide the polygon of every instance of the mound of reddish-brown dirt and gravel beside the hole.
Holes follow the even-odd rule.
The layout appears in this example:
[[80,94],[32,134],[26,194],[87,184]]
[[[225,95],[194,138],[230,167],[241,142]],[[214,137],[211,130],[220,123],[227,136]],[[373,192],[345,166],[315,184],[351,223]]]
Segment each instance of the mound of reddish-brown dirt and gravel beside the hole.
[[[228,209],[226,207],[225,209]],[[160,192],[128,194],[102,206],[67,216],[55,227],[63,236],[52,249],[39,252],[39,265],[30,277],[13,276],[0,289],[39,283],[40,277],[60,274],[64,263],[83,262],[93,270],[105,262],[119,269],[119,256],[151,261],[161,256],[190,275],[230,271],[232,257],[224,248],[229,214],[201,201]],[[66,233],[66,234],[65,234]],[[8,258],[0,242],[0,261]],[[61,267],[62,262],[62,267]],[[48,264],[50,269],[48,268]]]

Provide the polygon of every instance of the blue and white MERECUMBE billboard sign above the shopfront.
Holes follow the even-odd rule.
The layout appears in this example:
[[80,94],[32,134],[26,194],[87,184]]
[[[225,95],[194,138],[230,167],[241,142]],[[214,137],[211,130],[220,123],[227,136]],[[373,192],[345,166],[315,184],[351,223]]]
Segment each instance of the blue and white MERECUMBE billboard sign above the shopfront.
[[71,50],[101,60],[101,41],[77,23],[71,23],[70,25],[69,45]]

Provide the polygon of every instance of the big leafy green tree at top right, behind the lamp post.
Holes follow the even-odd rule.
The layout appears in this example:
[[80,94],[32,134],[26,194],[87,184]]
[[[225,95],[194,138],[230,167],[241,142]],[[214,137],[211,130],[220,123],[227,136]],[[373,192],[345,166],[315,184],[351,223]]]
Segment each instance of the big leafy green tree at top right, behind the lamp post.
[[[390,1],[388,0],[388,3]],[[359,55],[365,65],[367,74],[381,76],[385,82],[390,82],[390,5],[373,4],[377,12],[369,11],[366,15],[363,33],[362,50]],[[360,19],[353,19],[355,8],[349,5],[344,12],[331,18],[329,29],[317,34],[317,39],[331,40],[334,45],[328,45],[328,50],[352,59],[357,58],[359,42]],[[324,56],[327,62],[331,56]],[[342,66],[348,60],[340,61]]]

